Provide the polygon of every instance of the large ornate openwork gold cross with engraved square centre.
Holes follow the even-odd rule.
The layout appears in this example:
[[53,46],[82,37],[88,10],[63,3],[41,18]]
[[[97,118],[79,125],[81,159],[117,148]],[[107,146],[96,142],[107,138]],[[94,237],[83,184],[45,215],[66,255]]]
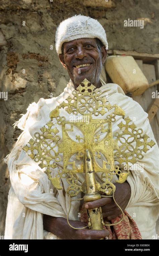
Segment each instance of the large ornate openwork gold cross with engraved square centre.
[[[111,182],[113,176],[116,177],[116,182],[123,183],[129,175],[129,170],[122,172],[119,166],[114,164],[114,155],[119,164],[134,164],[144,157],[143,152],[149,150],[148,146],[152,148],[155,145],[153,140],[147,141],[149,137],[143,135],[143,130],[137,129],[128,116],[124,118],[123,109],[117,104],[112,106],[105,96],[100,97],[101,91],[94,91],[95,86],[90,84],[85,79],[73,90],[72,98],[68,96],[53,109],[50,112],[51,120],[40,129],[41,133],[35,133],[35,140],[30,139],[29,145],[23,147],[35,162],[41,162],[41,168],[46,168],[45,173],[56,189],[63,189],[60,181],[61,178],[66,178],[66,193],[70,199],[83,192],[87,196],[93,195],[96,200],[100,198],[97,196],[98,191],[114,198],[115,186]],[[62,113],[66,111],[78,118],[66,120],[65,116],[60,115],[61,110]],[[123,121],[118,124],[121,132],[117,132],[113,139],[112,122],[116,121],[116,115],[122,116]],[[58,135],[59,127],[57,129],[55,122],[61,126],[62,142]],[[56,176],[52,177],[51,169],[58,166],[61,161],[60,154],[63,155],[63,169],[59,169]],[[81,186],[78,182],[78,172],[85,173],[86,176]],[[101,172],[101,184],[95,179],[96,172]],[[90,200],[90,196],[87,199]],[[89,216],[91,214],[88,212]],[[101,228],[101,225],[99,226]]]

